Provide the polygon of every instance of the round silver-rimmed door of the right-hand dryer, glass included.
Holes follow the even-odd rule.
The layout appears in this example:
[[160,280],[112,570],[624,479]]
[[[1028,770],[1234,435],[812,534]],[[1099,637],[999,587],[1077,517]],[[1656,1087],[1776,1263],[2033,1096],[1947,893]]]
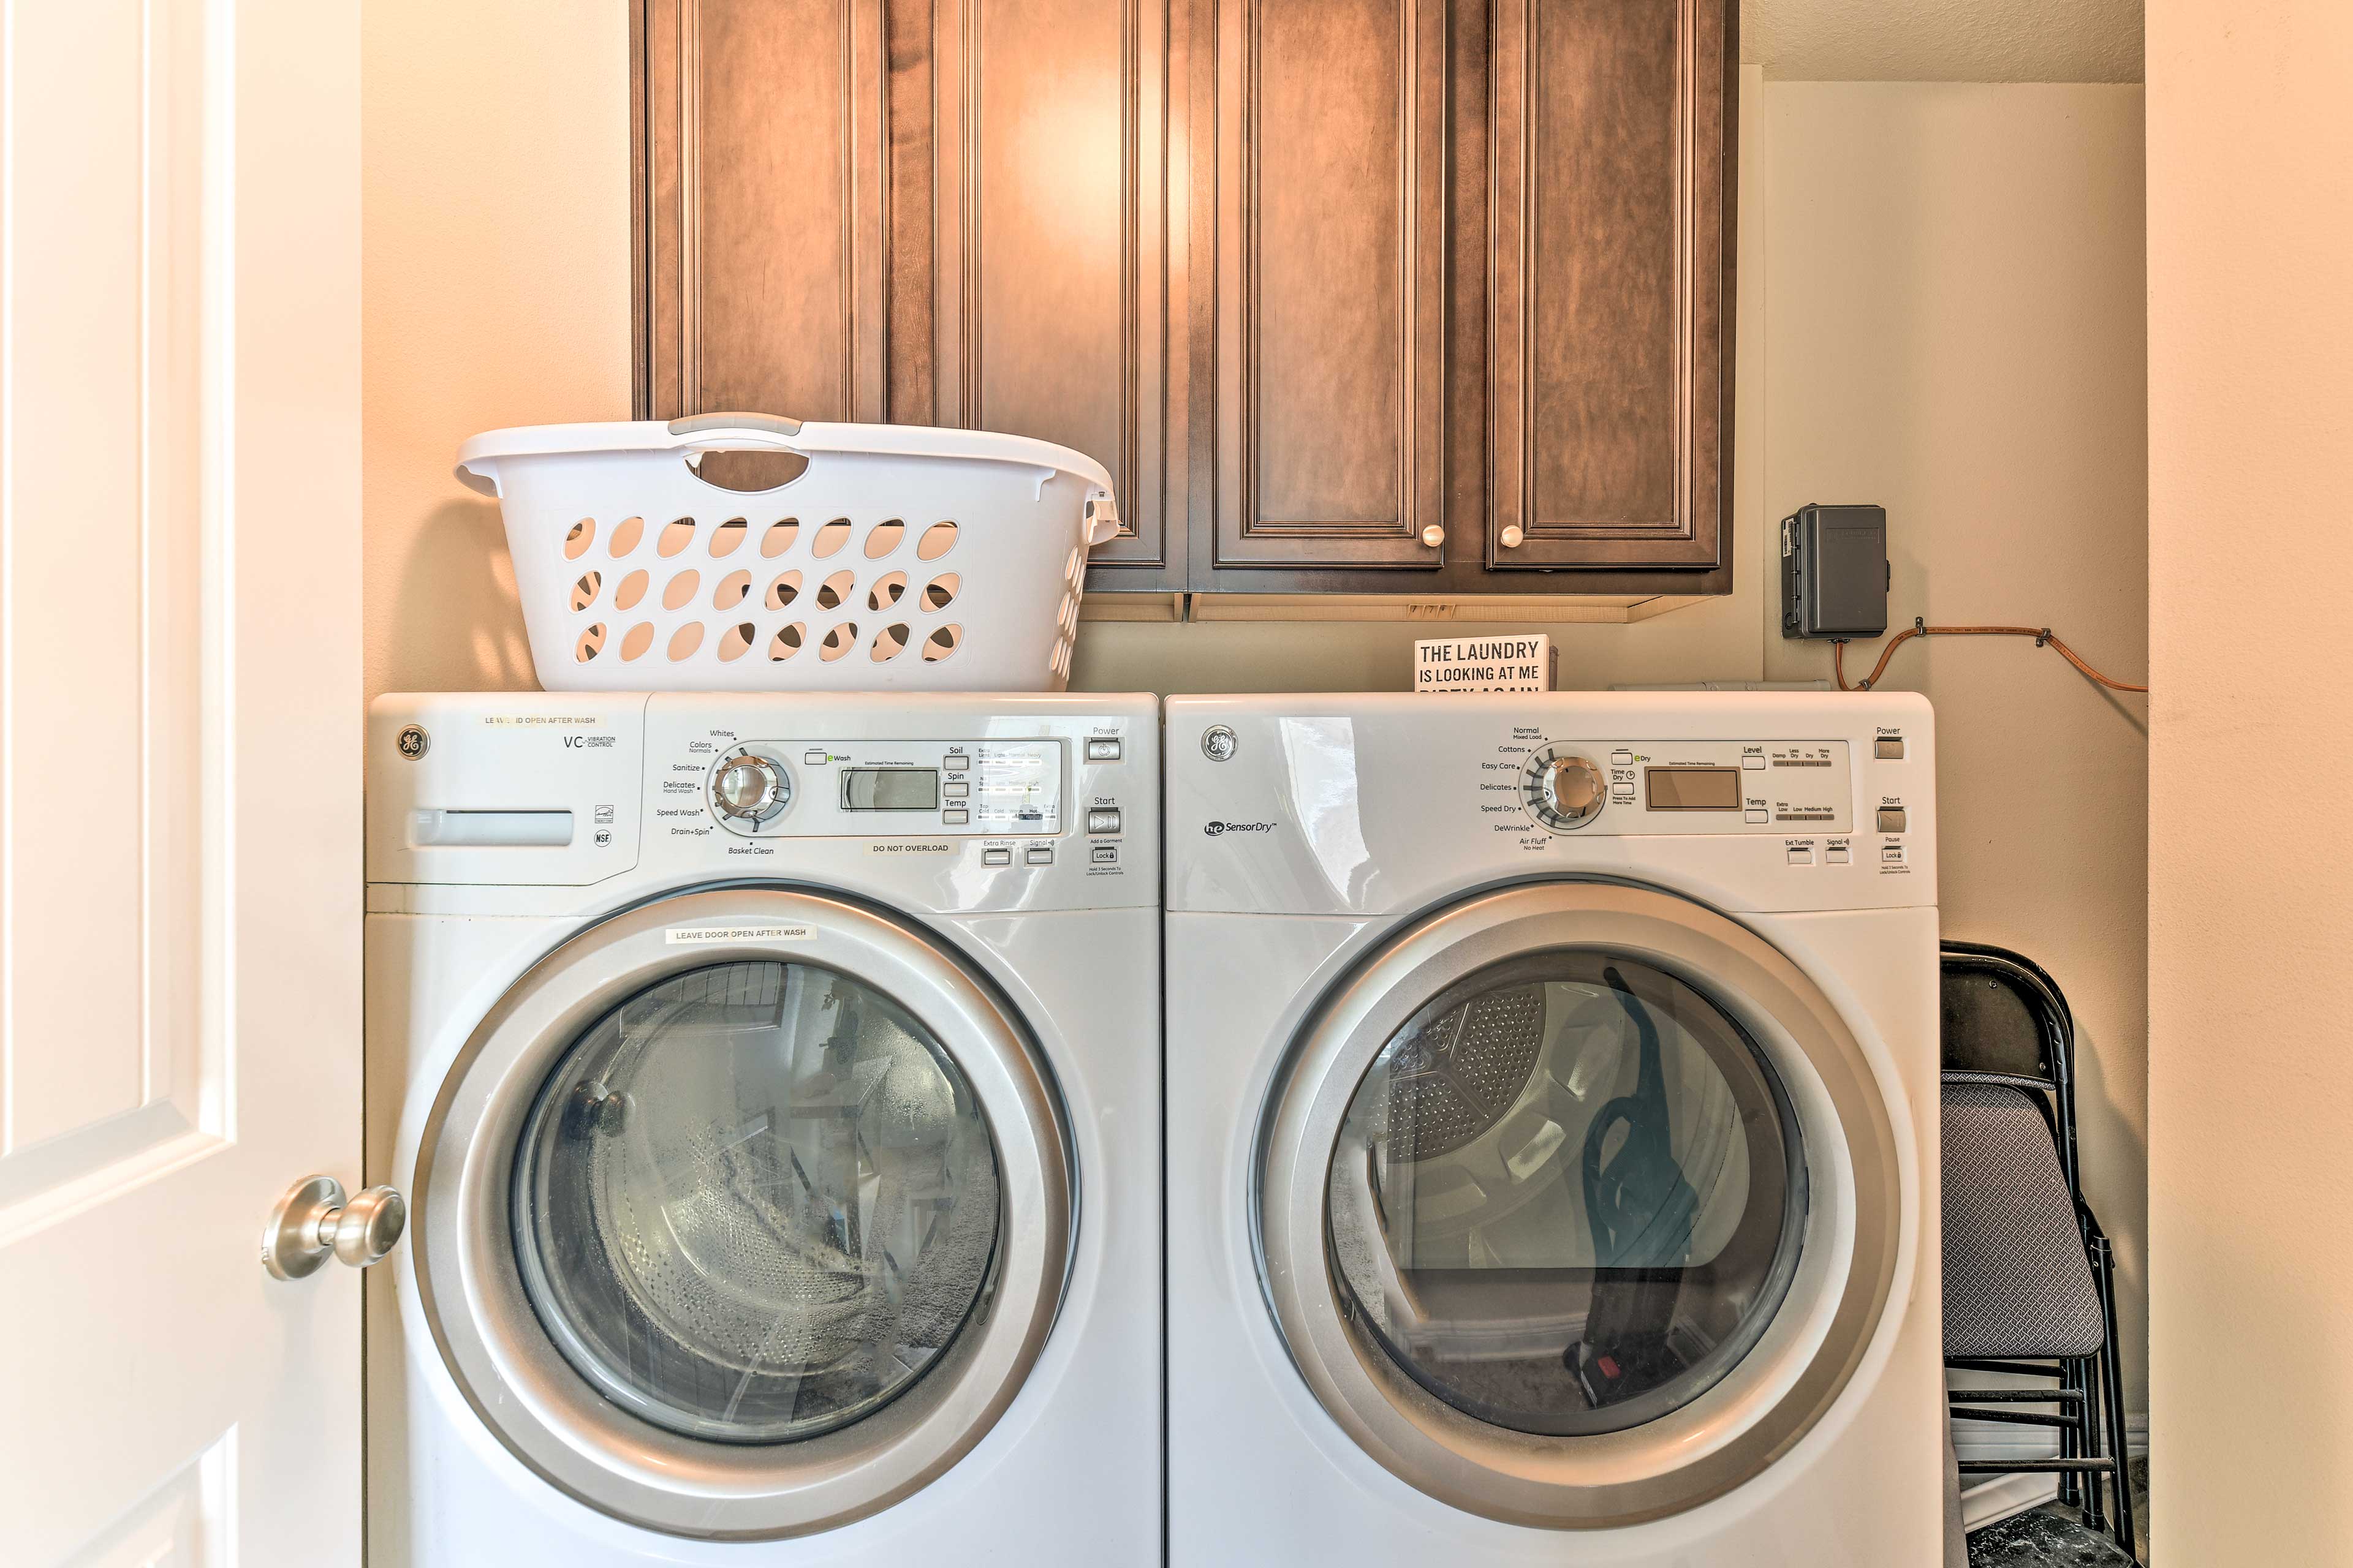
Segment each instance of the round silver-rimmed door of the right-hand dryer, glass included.
[[1908,1180],[1812,980],[1666,893],[1541,884],[1412,926],[1320,1009],[1259,1147],[1266,1295],[1381,1465],[1605,1528],[1755,1476],[1897,1293]]

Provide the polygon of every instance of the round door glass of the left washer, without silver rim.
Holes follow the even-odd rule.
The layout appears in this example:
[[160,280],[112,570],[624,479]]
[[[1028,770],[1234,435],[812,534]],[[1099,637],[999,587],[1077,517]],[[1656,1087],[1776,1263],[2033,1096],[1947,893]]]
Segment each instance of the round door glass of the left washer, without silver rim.
[[522,1286],[626,1410],[791,1443],[904,1394],[988,1300],[998,1152],[906,1009],[814,964],[692,969],[600,1018],[539,1091]]

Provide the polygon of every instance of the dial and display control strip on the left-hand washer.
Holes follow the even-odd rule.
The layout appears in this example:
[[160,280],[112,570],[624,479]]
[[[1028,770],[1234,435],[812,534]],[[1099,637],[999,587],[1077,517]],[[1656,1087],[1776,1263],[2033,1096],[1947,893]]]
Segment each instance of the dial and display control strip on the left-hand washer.
[[729,741],[701,785],[744,837],[1052,837],[1061,741]]

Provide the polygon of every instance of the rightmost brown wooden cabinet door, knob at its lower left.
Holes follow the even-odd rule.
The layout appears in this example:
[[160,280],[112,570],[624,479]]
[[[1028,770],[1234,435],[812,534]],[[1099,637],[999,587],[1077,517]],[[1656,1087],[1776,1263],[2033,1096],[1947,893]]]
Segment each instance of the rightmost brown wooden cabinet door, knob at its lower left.
[[1497,0],[1489,564],[1720,562],[1729,92],[1727,0]]

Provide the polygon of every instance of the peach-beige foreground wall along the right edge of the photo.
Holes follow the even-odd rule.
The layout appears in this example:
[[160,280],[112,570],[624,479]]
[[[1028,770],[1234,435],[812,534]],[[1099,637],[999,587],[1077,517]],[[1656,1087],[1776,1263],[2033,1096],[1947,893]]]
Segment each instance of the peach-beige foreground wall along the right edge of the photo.
[[2353,1563],[2346,82],[2348,5],[2148,7],[2155,1540],[2207,1568]]

